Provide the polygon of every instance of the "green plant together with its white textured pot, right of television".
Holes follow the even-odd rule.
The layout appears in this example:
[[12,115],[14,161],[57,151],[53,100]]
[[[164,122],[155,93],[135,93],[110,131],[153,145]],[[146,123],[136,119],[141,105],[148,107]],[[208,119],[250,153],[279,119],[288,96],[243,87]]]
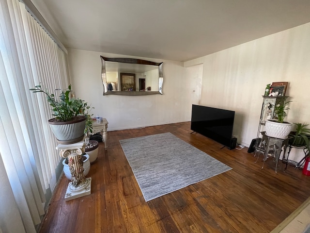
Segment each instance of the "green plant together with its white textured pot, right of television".
[[275,105],[275,119],[268,119],[265,123],[266,134],[270,137],[285,139],[291,133],[293,123],[284,121],[286,111],[290,108],[288,104],[292,101],[285,101],[283,98],[277,105]]

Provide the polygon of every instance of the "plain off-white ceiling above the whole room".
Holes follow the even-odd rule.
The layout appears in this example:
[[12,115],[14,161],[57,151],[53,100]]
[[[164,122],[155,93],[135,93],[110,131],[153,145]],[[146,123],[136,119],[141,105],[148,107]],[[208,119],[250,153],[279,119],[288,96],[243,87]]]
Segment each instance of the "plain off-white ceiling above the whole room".
[[188,61],[310,22],[310,0],[31,0],[66,48]]

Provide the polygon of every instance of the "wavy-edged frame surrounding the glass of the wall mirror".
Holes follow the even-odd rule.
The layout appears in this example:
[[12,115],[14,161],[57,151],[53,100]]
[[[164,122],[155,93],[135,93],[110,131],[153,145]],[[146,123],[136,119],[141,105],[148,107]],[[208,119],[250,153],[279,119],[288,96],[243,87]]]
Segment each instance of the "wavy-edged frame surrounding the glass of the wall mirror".
[[[141,59],[135,58],[108,58],[101,57],[102,69],[101,69],[101,79],[103,83],[103,95],[128,95],[128,96],[143,96],[143,95],[153,95],[153,94],[163,94],[162,85],[164,81],[163,77],[163,63],[150,62]],[[140,64],[140,65],[149,65],[158,67],[158,82],[159,90],[158,91],[108,91],[108,83],[106,76],[106,62],[119,62],[119,63],[130,63],[130,64]]]

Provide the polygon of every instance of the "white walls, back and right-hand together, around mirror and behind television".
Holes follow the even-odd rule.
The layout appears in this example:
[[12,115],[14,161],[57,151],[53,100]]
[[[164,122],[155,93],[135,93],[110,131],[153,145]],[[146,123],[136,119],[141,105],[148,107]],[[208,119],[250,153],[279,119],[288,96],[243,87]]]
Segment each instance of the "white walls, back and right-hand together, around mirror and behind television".
[[201,104],[235,111],[233,134],[249,146],[257,136],[265,86],[281,81],[289,82],[286,95],[293,100],[286,119],[310,123],[310,23],[185,62],[185,67],[142,58],[164,62],[164,95],[103,96],[99,56],[116,55],[68,51],[77,96],[93,104],[94,115],[107,118],[109,130],[189,121],[191,104]]

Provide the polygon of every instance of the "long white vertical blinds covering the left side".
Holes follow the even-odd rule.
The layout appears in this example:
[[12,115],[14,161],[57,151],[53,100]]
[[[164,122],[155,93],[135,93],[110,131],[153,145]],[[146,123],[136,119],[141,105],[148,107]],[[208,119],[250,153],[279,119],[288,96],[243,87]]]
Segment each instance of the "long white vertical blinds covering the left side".
[[23,229],[17,232],[36,232],[41,222],[60,156],[47,124],[52,116],[45,96],[29,89],[41,84],[52,91],[68,83],[65,52],[23,3],[0,0],[0,168],[5,169],[0,174],[8,180],[3,190],[14,196],[2,200],[0,195],[0,201],[16,206],[7,216],[0,211],[0,232],[16,232],[18,226]]

